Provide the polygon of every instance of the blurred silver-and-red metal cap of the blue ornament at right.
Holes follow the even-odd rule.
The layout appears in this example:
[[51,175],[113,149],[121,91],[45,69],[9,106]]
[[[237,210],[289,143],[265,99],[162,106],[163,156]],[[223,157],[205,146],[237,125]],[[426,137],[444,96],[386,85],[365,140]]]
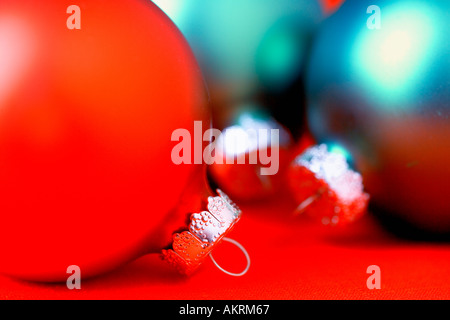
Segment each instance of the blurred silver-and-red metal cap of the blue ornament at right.
[[324,144],[295,158],[288,182],[299,203],[296,213],[307,212],[325,225],[344,225],[366,212],[369,195],[361,175],[349,168],[343,154],[328,151]]

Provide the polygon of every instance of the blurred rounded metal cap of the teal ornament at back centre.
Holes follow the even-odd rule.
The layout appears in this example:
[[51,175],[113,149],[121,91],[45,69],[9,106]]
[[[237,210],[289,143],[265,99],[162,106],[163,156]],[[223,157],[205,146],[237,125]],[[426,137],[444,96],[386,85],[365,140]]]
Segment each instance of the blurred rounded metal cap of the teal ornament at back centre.
[[233,199],[260,200],[273,196],[284,183],[293,138],[267,112],[240,108],[215,142],[211,179]]

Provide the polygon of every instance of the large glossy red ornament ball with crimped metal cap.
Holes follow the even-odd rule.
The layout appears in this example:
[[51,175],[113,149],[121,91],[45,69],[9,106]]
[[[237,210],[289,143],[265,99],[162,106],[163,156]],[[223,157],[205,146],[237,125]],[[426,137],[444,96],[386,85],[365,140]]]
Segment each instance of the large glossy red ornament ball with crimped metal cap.
[[[2,273],[100,274],[173,248],[206,209],[205,167],[170,156],[175,130],[210,127],[204,82],[154,4],[2,1],[0,70]],[[213,215],[231,210],[218,197]],[[214,243],[236,221],[220,220]]]

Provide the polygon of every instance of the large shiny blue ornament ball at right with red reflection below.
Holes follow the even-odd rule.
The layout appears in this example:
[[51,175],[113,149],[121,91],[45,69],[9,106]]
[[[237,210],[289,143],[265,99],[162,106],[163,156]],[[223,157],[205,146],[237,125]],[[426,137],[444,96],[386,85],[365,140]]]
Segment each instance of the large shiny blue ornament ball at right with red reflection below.
[[315,39],[308,118],[380,212],[450,231],[448,1],[347,0]]

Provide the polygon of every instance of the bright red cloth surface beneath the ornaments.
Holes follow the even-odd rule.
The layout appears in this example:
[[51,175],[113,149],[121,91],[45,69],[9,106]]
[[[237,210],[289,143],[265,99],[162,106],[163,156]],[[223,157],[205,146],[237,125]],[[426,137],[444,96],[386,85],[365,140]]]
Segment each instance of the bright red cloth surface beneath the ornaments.
[[[208,259],[191,277],[148,255],[109,274],[65,284],[30,283],[0,276],[0,299],[449,299],[450,244],[411,242],[387,233],[370,215],[341,228],[292,218],[291,204],[242,206],[230,238],[251,256],[243,277],[219,271]],[[214,258],[240,272],[245,257],[223,243]],[[366,286],[367,267],[381,269],[381,289]]]

